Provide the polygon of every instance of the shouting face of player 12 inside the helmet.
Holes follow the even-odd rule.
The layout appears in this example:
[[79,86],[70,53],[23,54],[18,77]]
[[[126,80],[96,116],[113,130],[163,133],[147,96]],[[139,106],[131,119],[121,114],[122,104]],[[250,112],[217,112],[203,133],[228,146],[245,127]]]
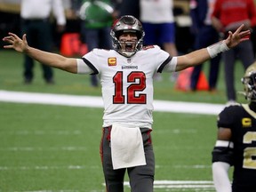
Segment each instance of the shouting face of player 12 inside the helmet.
[[138,43],[138,37],[134,33],[124,33],[119,36],[119,41],[121,43],[122,51],[134,52],[135,46]]

